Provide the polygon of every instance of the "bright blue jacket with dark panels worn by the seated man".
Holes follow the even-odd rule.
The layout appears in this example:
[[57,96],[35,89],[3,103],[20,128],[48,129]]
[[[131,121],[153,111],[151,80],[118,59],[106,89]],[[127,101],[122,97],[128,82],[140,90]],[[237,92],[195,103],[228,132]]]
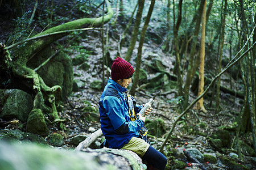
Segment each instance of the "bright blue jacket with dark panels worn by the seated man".
[[124,92],[127,88],[120,86],[109,78],[100,98],[101,130],[110,148],[121,148],[132,137],[139,137],[139,130],[144,121],[130,121]]

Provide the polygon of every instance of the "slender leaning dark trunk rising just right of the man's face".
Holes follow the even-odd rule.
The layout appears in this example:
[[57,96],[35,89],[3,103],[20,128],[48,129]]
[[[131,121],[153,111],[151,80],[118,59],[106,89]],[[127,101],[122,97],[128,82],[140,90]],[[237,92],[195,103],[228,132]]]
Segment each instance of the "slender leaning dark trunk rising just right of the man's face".
[[155,0],[151,0],[150,8],[149,8],[148,13],[147,13],[147,18],[146,18],[146,21],[145,21],[144,26],[142,28],[142,31],[141,31],[141,39],[139,39],[139,48],[138,48],[138,55],[137,55],[134,82],[133,82],[133,85],[131,86],[131,91],[130,91],[131,95],[135,94],[135,90],[136,90],[137,84],[139,82],[139,71],[141,69],[142,47],[143,47],[143,43],[144,43],[148,23],[150,22],[151,14],[152,14],[152,11],[154,9],[154,5],[155,5]]

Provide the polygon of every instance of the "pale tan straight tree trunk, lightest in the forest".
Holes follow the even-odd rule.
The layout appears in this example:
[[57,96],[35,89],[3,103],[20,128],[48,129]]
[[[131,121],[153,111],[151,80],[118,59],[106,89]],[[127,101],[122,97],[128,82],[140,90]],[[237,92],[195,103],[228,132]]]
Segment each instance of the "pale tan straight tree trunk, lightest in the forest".
[[[204,92],[204,58],[205,58],[205,23],[206,23],[206,7],[207,1],[204,2],[204,9],[202,15],[202,29],[201,29],[201,48],[200,48],[200,65],[199,65],[199,90],[197,96],[200,96]],[[204,113],[207,110],[204,108],[203,97],[197,101],[195,109],[203,111]]]

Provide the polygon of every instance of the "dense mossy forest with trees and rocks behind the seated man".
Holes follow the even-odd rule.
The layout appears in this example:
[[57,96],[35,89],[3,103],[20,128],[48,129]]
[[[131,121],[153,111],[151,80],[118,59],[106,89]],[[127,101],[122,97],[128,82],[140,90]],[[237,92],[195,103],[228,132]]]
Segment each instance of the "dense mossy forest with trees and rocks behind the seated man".
[[135,68],[129,93],[156,101],[146,126],[167,169],[256,168],[255,1],[3,0],[0,13],[1,139],[75,148],[100,129],[119,56]]

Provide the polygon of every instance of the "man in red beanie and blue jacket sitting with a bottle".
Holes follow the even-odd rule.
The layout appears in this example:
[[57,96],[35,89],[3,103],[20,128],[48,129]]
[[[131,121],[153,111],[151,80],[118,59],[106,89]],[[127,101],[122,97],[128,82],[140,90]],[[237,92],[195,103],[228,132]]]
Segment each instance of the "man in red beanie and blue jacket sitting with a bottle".
[[[166,156],[140,138],[146,116],[141,114],[138,120],[131,121],[129,106],[126,103],[127,87],[131,83],[134,69],[124,59],[117,57],[111,67],[111,78],[108,80],[100,98],[101,130],[109,148],[131,150],[148,163],[147,169],[164,169]],[[143,106],[138,107],[136,113]],[[152,108],[147,109],[146,115]]]

